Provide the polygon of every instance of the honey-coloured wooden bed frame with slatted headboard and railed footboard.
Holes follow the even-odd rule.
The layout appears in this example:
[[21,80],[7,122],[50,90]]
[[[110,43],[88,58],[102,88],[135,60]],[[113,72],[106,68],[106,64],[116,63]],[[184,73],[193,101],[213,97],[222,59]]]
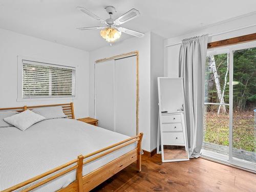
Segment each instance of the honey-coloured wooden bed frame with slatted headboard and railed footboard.
[[[63,112],[67,115],[67,117],[71,118],[71,119],[75,119],[73,103],[23,106],[23,107],[17,107],[17,108],[0,108],[0,110],[1,111],[15,110],[17,112],[23,112],[25,110],[31,110],[34,108],[45,108],[48,106],[62,106]],[[140,133],[137,136],[134,136],[129,139],[120,141],[116,144],[107,146],[107,147],[102,148],[101,150],[98,150],[91,154],[79,155],[77,157],[77,159],[74,159],[73,161],[67,162],[66,164],[63,164],[59,167],[49,170],[48,172],[46,172],[44,174],[33,177],[27,181],[24,181],[22,183],[14,185],[14,186],[7,188],[3,191],[5,191],[5,192],[13,191],[13,190],[19,189],[21,187],[25,187],[28,184],[32,184],[33,182],[40,179],[39,182],[32,184],[29,187],[22,190],[22,191],[29,191],[29,190],[32,190],[32,189],[34,189],[40,185],[43,185],[49,181],[52,181],[62,175],[65,175],[74,169],[76,169],[76,180],[73,181],[71,184],[69,184],[67,187],[59,189],[58,192],[90,191],[91,189],[95,188],[100,183],[109,179],[110,177],[112,177],[113,175],[118,173],[120,170],[122,170],[126,166],[134,163],[135,161],[137,163],[137,170],[138,170],[138,172],[140,172],[141,171],[141,155],[142,155],[142,150],[141,150],[142,136],[143,136],[143,133]],[[102,167],[94,170],[93,172],[91,172],[85,176],[82,176],[82,168],[83,168],[84,164],[90,163],[98,158],[101,158],[105,155],[113,153],[114,151],[119,150],[120,148],[125,147],[125,146],[130,145],[135,142],[137,142],[137,147],[134,150],[132,150],[131,152],[128,152],[128,153],[122,155],[121,157],[118,157],[118,158],[114,159],[113,161],[103,165]],[[63,170],[61,170],[61,169],[63,169]],[[56,174],[54,174],[54,173],[56,173]],[[52,174],[54,174],[54,175],[52,175]]]

